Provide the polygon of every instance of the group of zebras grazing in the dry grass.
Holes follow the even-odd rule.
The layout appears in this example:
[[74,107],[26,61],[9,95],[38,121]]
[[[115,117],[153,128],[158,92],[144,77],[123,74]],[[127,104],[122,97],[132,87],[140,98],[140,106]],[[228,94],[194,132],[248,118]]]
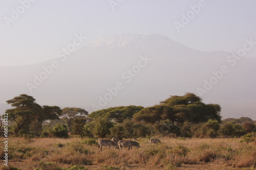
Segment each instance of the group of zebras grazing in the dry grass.
[[[159,143],[161,142],[158,139],[149,139],[148,143]],[[98,148],[101,150],[102,147],[113,147],[115,149],[122,149],[122,148],[128,148],[128,151],[132,148],[132,147],[136,147],[139,148],[140,144],[137,142],[137,139],[134,138],[133,141],[132,140],[119,140],[116,137],[113,137],[111,140],[108,139],[101,139],[98,138]]]

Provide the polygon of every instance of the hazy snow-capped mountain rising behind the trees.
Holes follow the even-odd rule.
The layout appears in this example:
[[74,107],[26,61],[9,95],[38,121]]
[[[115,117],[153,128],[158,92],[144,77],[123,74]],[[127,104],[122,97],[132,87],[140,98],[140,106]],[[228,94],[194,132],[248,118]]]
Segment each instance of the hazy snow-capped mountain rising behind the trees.
[[220,104],[223,118],[256,119],[252,74],[256,60],[242,58],[234,64],[230,56],[193,50],[161,35],[106,36],[51,61],[0,67],[0,111],[10,107],[6,100],[22,93],[34,96],[40,105],[92,112],[114,106],[153,106],[169,95],[199,95],[199,88],[208,87],[203,102]]

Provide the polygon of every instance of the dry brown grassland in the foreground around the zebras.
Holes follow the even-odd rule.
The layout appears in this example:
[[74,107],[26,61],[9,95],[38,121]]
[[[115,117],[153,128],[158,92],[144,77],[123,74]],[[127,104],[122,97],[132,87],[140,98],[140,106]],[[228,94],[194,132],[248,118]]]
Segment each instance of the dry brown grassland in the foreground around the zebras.
[[[73,136],[58,138],[11,137],[9,162],[4,166],[4,143],[0,151],[2,169],[255,169],[256,143],[239,138],[185,139],[159,138],[162,143],[148,144],[137,138],[140,148],[121,151],[95,144],[97,139]],[[3,140],[3,137],[0,138]],[[12,167],[12,168],[11,168]],[[15,168],[16,167],[16,168]]]

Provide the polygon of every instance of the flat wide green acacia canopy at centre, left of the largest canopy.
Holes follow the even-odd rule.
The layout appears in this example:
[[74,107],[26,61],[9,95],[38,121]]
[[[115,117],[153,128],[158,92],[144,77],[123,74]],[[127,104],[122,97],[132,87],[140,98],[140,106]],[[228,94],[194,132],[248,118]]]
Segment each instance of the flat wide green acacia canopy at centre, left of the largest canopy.
[[89,117],[105,117],[110,122],[123,123],[125,119],[132,119],[133,115],[143,109],[142,106],[119,106],[92,112]]

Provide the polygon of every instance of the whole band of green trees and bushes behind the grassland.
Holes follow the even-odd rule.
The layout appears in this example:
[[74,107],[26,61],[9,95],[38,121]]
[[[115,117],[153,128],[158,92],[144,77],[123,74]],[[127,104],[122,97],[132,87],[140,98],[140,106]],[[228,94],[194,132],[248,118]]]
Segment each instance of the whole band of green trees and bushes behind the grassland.
[[15,136],[137,138],[169,137],[240,137],[256,132],[248,117],[221,121],[221,106],[205,104],[194,93],[172,95],[151,107],[119,106],[91,114],[82,108],[40,106],[32,96],[20,94],[8,100],[9,132]]

